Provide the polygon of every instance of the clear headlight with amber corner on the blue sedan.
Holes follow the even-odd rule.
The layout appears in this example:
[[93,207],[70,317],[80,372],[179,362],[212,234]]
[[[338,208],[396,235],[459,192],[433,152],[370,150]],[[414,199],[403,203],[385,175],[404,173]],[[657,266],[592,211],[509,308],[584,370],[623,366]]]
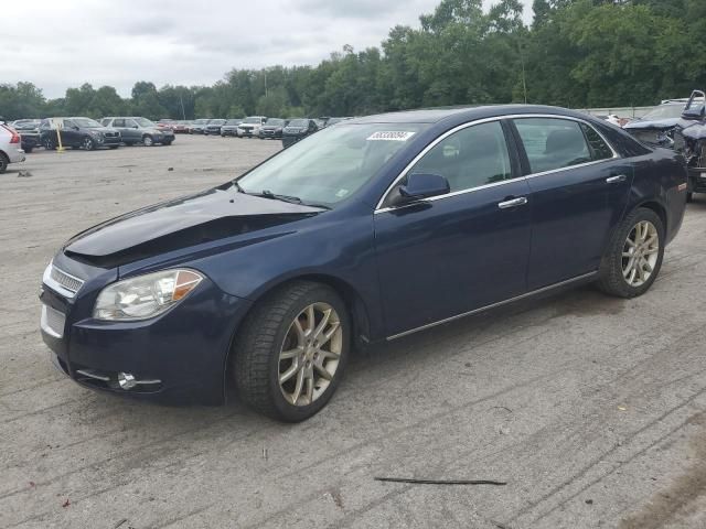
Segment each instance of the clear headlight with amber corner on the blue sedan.
[[93,310],[96,320],[147,320],[186,298],[203,280],[193,270],[164,270],[118,281],[103,289]]

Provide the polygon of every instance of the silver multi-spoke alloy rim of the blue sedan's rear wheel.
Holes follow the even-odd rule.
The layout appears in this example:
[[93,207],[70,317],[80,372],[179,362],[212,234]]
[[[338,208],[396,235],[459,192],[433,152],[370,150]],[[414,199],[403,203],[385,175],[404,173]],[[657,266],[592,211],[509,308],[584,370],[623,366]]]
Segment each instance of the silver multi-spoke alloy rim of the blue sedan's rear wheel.
[[650,280],[660,255],[660,234],[649,220],[639,222],[628,234],[622,249],[622,276],[630,287]]

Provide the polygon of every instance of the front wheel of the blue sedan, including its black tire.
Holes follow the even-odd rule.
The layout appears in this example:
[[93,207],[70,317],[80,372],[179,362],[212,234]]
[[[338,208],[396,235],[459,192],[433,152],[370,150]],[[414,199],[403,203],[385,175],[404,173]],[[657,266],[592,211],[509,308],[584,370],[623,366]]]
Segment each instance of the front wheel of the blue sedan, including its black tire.
[[[309,307],[314,311],[313,325],[309,323]],[[312,327],[314,332],[319,331],[328,309],[331,309],[329,323],[321,328],[320,336],[332,333],[331,337],[324,338],[319,348],[307,345],[308,333]],[[299,322],[301,333],[297,332],[296,322]],[[253,307],[233,344],[233,376],[240,399],[279,421],[309,419],[335,392],[347,363],[350,343],[347,310],[329,287],[297,281],[267,294]],[[296,358],[280,358],[287,350]],[[320,353],[322,350],[324,354]],[[328,377],[322,376],[323,371],[317,367],[319,364]],[[280,377],[287,374],[290,378],[280,384]],[[307,377],[311,377],[311,384]]]

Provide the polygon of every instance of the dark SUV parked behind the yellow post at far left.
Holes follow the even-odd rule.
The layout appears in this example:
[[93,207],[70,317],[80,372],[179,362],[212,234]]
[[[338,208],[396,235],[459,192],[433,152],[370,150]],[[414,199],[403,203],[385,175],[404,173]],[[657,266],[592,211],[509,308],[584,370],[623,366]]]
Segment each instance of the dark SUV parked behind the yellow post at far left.
[[61,143],[63,147],[83,148],[93,151],[99,147],[117,149],[122,142],[117,129],[104,127],[90,118],[51,118],[40,123],[40,141],[45,149],[58,147],[56,123],[61,125]]

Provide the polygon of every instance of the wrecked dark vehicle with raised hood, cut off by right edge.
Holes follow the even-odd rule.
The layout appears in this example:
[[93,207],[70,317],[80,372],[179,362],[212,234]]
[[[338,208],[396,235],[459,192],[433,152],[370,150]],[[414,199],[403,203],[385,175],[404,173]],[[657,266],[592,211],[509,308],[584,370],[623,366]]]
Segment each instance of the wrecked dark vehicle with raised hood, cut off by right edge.
[[700,90],[692,93],[674,129],[674,150],[686,160],[687,196],[706,193],[706,95]]

